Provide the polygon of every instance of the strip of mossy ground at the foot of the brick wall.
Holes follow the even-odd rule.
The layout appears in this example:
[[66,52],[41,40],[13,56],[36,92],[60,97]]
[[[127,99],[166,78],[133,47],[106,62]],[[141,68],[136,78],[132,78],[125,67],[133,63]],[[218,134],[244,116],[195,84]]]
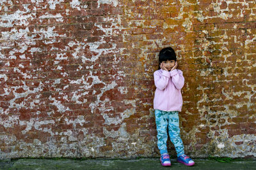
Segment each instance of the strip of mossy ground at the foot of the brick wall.
[[186,167],[172,159],[171,167],[162,167],[159,159],[15,159],[0,160],[0,169],[256,169],[256,159],[235,159],[229,163],[209,159],[194,159],[193,167]]

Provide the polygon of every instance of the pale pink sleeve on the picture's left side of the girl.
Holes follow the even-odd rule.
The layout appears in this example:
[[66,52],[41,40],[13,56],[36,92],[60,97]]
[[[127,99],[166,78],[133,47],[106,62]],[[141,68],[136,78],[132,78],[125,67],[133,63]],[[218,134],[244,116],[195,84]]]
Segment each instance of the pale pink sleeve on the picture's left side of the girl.
[[163,70],[162,73],[160,71],[156,71],[154,73],[154,81],[155,81],[156,88],[159,90],[164,90],[168,85],[170,76],[171,75],[168,71]]

